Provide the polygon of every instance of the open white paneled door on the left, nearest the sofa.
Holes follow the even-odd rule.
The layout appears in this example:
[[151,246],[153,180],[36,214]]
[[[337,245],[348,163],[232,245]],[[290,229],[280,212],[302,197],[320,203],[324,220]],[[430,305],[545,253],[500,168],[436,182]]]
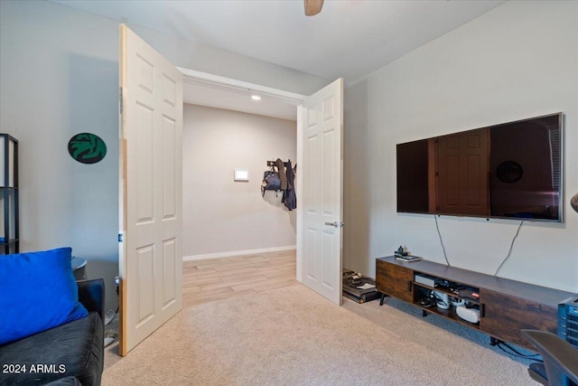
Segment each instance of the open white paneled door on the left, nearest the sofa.
[[120,353],[182,308],[182,73],[120,26]]

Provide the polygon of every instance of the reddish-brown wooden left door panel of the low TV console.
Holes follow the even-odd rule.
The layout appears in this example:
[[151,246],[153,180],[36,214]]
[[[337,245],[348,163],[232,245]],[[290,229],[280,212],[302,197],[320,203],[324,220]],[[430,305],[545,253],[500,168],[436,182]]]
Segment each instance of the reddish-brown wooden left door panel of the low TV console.
[[376,260],[378,291],[406,302],[414,301],[414,270]]

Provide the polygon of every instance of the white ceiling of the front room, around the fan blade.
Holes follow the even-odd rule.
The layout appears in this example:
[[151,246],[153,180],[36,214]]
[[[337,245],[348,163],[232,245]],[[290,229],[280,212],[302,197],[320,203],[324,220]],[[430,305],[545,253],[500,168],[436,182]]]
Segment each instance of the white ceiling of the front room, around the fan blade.
[[[505,2],[325,0],[321,14],[307,17],[301,0],[51,1],[346,84]],[[210,88],[212,99],[256,105]]]

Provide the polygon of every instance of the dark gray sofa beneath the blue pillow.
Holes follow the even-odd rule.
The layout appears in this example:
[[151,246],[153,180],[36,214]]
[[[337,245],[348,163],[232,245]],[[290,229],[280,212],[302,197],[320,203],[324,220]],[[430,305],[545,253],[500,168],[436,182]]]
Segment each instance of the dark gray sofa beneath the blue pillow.
[[[6,365],[0,369],[0,385],[100,385],[104,364],[105,284],[102,278],[77,284],[79,301],[89,315],[0,346],[0,365]],[[11,364],[14,366],[7,367]],[[16,373],[18,369],[21,372]]]

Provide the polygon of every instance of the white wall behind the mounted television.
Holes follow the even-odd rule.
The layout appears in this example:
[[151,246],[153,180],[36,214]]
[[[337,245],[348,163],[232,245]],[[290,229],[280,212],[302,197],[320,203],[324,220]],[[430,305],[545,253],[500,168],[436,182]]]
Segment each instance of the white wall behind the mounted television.
[[[399,245],[445,262],[434,217],[396,213],[397,143],[563,111],[564,223],[525,222],[499,276],[578,291],[577,19],[577,2],[508,2],[346,89],[346,267],[374,276]],[[518,224],[439,218],[450,263],[489,274]]]

